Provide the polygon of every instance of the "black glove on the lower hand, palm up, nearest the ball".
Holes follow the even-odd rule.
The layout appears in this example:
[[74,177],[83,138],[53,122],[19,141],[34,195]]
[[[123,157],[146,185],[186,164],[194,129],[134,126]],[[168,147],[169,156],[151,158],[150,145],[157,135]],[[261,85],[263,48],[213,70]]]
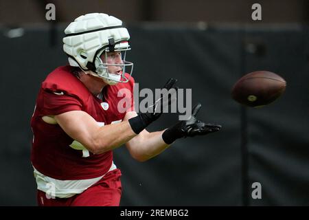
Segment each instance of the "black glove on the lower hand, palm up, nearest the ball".
[[176,139],[181,137],[194,137],[195,135],[206,135],[219,131],[221,125],[208,124],[196,119],[196,113],[201,109],[201,104],[196,104],[192,109],[192,116],[188,120],[183,120],[166,129],[162,138],[166,144],[172,144]]

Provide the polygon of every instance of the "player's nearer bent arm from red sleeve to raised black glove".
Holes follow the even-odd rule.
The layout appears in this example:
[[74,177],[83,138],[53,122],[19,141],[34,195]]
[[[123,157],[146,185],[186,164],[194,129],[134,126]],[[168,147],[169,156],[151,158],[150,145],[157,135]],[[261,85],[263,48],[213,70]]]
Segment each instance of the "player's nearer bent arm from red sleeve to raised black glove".
[[[176,80],[171,78],[163,88],[169,91],[175,83]],[[157,120],[161,115],[161,111],[155,110],[158,104],[163,106],[162,98],[152,104],[151,112],[139,113],[124,122],[102,127],[84,111],[67,111],[56,115],[54,119],[67,135],[80,142],[87,150],[98,154],[111,151],[128,142]]]

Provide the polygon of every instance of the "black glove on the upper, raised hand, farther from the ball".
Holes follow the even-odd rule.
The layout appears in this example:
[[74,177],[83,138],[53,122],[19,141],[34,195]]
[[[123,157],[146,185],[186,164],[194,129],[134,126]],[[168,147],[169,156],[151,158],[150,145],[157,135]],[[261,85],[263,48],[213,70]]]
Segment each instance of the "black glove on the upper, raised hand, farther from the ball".
[[135,133],[138,134],[143,131],[146,126],[148,126],[151,122],[154,122],[161,116],[163,109],[168,108],[168,106],[172,102],[172,96],[168,96],[168,91],[172,88],[177,89],[177,87],[174,87],[176,81],[176,79],[170,78],[162,88],[165,89],[165,92],[161,94],[161,97],[156,100],[154,104],[148,107],[148,111],[146,113],[138,113],[136,117],[130,118],[128,120],[132,130]]

